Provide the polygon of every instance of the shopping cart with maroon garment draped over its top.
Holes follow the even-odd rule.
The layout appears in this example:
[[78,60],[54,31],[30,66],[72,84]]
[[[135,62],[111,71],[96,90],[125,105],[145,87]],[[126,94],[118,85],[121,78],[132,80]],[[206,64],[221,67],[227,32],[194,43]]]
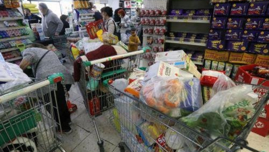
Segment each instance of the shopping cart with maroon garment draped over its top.
[[[85,107],[88,110],[89,116],[92,118],[98,138],[97,144],[101,152],[104,151],[103,141],[100,138],[95,117],[111,109],[113,106],[113,104],[108,102],[111,101],[110,98],[113,98],[107,87],[109,80],[128,78],[133,69],[139,67],[143,53],[148,51],[146,49],[144,50],[110,56],[99,60],[84,61],[81,65],[81,78],[78,84],[83,95]],[[103,70],[101,78],[89,77],[90,67],[92,65],[100,66],[102,63],[108,66]]]

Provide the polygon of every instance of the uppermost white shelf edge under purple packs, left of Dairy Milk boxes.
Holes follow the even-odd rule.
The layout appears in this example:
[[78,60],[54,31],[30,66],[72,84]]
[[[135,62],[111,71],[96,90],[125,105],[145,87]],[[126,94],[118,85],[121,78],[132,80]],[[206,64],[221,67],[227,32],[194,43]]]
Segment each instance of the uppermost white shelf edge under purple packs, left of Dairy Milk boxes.
[[167,22],[210,23],[210,16],[166,16]]

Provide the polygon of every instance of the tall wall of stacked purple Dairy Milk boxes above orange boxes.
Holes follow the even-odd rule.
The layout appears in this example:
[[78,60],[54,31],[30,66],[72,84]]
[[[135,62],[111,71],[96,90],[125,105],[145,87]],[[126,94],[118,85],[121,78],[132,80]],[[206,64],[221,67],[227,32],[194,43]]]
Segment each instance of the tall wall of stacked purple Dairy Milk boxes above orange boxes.
[[[205,59],[220,62],[216,56],[218,54],[224,55],[225,53],[220,53],[220,51],[225,51],[229,52],[225,54],[227,60],[224,62],[226,64],[268,66],[269,2],[212,2],[216,3],[214,3],[207,41],[207,48],[210,50],[206,52]],[[218,64],[211,61],[205,62],[207,68],[211,67],[212,64],[213,67],[216,67],[214,65]],[[235,74],[230,76],[234,78]]]

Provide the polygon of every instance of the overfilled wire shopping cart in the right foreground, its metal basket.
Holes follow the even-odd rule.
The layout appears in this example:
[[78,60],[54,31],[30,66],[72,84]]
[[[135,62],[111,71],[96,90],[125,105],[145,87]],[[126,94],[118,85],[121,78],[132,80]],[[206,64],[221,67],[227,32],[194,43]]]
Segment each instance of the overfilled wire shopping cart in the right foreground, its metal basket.
[[[266,88],[263,86],[253,87]],[[266,89],[268,90],[268,87]],[[111,112],[114,118],[114,121],[111,122],[114,126],[116,125],[117,130],[120,125],[122,142],[119,146],[122,147],[121,151],[124,151],[124,147],[127,147],[133,152],[154,150],[155,152],[171,152],[173,151],[171,148],[179,149],[177,152],[181,150],[231,152],[240,150],[241,148],[258,152],[247,146],[246,138],[268,101],[268,91],[255,106],[255,114],[249,123],[247,123],[234,140],[230,140],[226,137],[212,139],[210,135],[202,134],[188,127],[186,124],[147,106],[138,98],[119,91],[112,85],[109,85],[109,90],[111,90],[114,95],[114,98],[110,98],[113,100],[110,103],[114,103],[117,110],[117,112]],[[156,134],[156,132],[164,131],[165,133],[161,135]],[[169,145],[171,147],[168,146],[168,142],[170,142]],[[187,144],[187,149],[180,149],[182,144]],[[155,149],[153,150],[153,148]]]

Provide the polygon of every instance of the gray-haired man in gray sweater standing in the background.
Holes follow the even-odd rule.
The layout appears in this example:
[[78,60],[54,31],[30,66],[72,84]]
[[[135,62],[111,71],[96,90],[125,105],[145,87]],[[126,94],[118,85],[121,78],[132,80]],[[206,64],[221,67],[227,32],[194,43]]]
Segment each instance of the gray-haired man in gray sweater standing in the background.
[[63,23],[45,3],[39,3],[38,9],[42,14],[42,29],[46,37],[59,36]]

